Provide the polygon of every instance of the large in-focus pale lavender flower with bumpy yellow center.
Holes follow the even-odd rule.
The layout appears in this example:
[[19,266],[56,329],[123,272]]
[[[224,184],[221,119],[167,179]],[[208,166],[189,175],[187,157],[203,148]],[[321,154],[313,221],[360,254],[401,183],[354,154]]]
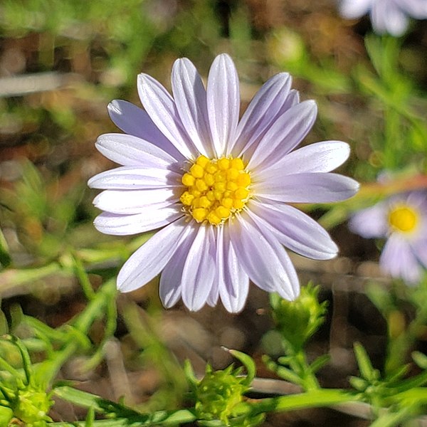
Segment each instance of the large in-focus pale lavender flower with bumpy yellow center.
[[123,265],[117,287],[135,290],[162,272],[165,307],[182,298],[190,310],[221,297],[229,312],[243,308],[251,279],[293,300],[299,283],[284,246],[329,259],[337,246],[309,216],[288,203],[353,196],[353,179],[329,173],[349,155],[344,142],[292,151],[313,125],[316,105],[300,102],[291,78],[270,78],[239,121],[240,95],[231,58],[215,58],[207,88],[186,58],[172,69],[172,93],[138,76],[145,110],[115,100],[108,110],[126,132],[101,135],[97,149],[122,167],[89,186],[104,213],[95,226],[125,235],[159,228]]

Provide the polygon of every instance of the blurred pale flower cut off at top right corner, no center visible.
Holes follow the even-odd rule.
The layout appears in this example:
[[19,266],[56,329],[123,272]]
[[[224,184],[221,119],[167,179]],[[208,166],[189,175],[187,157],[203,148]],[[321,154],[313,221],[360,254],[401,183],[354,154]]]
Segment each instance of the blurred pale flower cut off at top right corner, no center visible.
[[427,18],[427,0],[342,0],[344,18],[357,19],[368,14],[374,31],[401,36],[408,28],[408,17]]

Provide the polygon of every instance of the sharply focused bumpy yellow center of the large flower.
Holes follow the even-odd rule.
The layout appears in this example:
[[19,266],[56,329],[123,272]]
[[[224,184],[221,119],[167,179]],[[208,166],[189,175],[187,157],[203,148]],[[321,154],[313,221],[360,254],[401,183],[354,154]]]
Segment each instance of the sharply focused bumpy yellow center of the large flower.
[[251,176],[245,172],[242,159],[199,156],[181,182],[187,187],[180,198],[184,209],[199,223],[218,225],[243,209]]

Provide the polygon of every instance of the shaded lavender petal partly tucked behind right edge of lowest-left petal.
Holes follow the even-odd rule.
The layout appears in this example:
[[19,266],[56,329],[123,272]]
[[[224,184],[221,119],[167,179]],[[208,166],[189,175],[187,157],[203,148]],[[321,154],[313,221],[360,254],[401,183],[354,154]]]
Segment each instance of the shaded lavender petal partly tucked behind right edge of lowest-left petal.
[[189,236],[182,241],[181,246],[165,265],[160,276],[159,295],[164,307],[169,308],[178,302],[182,292],[182,270],[186,258],[189,255],[190,247],[196,236],[197,228],[193,228]]

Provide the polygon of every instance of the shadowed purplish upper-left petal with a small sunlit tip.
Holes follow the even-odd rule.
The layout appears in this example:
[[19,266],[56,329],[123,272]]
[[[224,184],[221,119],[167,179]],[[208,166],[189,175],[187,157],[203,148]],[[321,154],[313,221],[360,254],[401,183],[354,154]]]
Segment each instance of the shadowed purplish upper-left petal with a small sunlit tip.
[[114,100],[107,107],[114,124],[129,135],[145,139],[178,160],[184,156],[172,145],[162,132],[157,129],[146,111],[131,102]]

